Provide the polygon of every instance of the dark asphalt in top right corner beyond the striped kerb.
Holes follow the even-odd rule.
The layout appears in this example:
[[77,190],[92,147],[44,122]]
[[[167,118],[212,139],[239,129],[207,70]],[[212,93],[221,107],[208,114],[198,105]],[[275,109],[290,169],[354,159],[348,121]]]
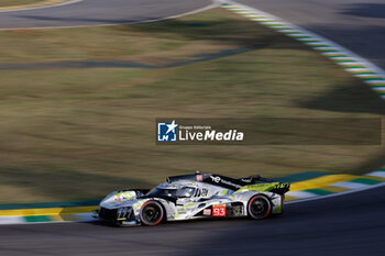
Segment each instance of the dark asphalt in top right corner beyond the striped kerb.
[[322,35],[385,68],[385,0],[239,0]]

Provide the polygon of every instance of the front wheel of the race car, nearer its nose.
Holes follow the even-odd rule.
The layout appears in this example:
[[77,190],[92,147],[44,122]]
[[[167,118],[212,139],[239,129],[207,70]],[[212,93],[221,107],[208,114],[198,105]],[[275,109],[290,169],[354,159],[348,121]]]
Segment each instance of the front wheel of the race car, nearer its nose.
[[146,201],[141,209],[141,221],[144,225],[157,225],[165,216],[163,205],[157,201]]

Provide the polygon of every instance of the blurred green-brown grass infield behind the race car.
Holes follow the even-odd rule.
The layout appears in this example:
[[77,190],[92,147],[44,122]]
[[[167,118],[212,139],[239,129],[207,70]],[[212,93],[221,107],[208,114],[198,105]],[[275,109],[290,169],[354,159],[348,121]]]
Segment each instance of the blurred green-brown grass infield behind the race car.
[[156,146],[156,118],[378,116],[385,104],[318,53],[224,10],[157,23],[0,32],[1,63],[133,59],[166,69],[0,70],[0,202],[99,198],[195,170],[364,172],[381,146]]

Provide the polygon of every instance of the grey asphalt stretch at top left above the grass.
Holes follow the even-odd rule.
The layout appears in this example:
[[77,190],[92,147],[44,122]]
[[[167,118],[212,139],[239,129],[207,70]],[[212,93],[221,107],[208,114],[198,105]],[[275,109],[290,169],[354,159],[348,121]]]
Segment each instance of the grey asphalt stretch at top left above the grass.
[[0,12],[0,29],[145,22],[211,3],[210,0],[84,0],[63,7]]

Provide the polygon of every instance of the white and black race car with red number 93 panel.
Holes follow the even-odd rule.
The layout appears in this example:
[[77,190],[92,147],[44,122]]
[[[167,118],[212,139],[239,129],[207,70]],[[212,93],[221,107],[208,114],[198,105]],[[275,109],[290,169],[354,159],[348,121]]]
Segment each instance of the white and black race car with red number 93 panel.
[[125,189],[107,196],[95,218],[118,226],[201,218],[265,219],[283,212],[289,183],[260,176],[230,178],[197,171],[168,177],[152,190]]

